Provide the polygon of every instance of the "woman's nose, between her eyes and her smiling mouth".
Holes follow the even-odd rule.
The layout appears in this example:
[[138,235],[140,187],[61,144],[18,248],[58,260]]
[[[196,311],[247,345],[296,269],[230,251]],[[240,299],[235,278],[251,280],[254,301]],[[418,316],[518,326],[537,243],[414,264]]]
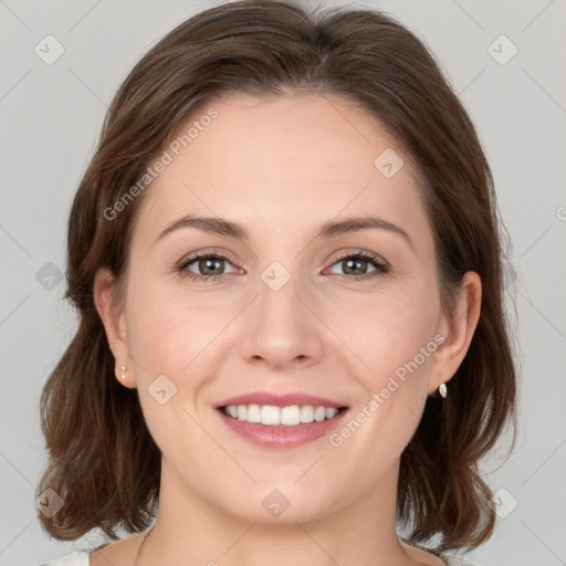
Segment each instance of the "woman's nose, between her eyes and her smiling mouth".
[[279,287],[281,277],[285,281],[291,275],[281,265],[262,275],[258,296],[244,313],[242,356],[250,364],[277,370],[316,364],[324,349],[324,324],[316,316],[314,294],[300,276],[290,276]]

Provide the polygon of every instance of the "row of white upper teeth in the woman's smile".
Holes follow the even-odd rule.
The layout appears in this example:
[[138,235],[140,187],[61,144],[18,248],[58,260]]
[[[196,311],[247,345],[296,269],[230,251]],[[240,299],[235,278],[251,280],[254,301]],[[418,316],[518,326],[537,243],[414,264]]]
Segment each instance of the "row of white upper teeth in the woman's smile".
[[261,422],[276,427],[296,427],[307,422],[321,422],[338,415],[334,407],[314,407],[313,405],[292,405],[290,407],[274,407],[273,405],[230,405],[224,407],[224,413],[233,419],[247,422]]

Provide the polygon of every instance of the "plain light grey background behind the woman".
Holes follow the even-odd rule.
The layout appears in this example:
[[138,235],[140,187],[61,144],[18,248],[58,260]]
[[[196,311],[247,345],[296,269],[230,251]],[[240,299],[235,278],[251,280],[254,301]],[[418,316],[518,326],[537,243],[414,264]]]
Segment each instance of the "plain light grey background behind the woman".
[[[181,20],[217,3],[0,0],[1,566],[40,564],[104,541],[96,533],[74,543],[49,539],[33,500],[44,464],[39,396],[75,327],[64,282],[56,284],[66,214],[106,106],[134,62]],[[566,3],[357,6],[385,9],[441,61],[479,128],[513,241],[520,438],[505,463],[503,449],[484,462],[492,488],[506,491],[499,492],[493,538],[469,559],[566,564]],[[48,34],[65,50],[51,65],[34,53]],[[506,64],[512,45],[493,43],[501,34],[518,49]]]

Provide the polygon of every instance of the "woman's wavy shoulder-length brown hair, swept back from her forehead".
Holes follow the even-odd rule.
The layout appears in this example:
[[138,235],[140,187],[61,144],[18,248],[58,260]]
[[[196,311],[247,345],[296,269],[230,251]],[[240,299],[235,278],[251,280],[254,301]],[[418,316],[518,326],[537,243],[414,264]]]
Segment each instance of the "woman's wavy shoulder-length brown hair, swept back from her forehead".
[[[505,426],[516,429],[515,368],[503,311],[502,233],[493,180],[474,127],[423,43],[381,12],[244,0],[188,19],[133,69],[107,113],[76,192],[67,232],[67,292],[80,326],[41,397],[49,463],[36,493],[64,506],[44,528],[75,539],[92,528],[149,526],[158,505],[160,452],[137,390],[119,385],[93,302],[96,271],[119,283],[142,192],[105,213],[196,108],[230,92],[348,97],[377,117],[415,161],[434,232],[442,306],[463,274],[482,280],[480,321],[442,403],[427,399],[401,455],[398,516],[409,541],[473,548],[494,528],[492,493],[478,463]],[[146,191],[147,192],[147,191]],[[514,442],[515,436],[513,436]]]

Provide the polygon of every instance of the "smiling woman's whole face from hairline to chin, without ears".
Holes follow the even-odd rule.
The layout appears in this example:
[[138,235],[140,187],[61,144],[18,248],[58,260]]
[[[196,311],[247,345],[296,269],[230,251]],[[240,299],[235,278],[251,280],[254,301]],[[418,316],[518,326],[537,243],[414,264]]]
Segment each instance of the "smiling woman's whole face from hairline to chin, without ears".
[[[337,96],[232,95],[180,135],[195,120],[138,211],[113,339],[164,478],[264,522],[395,488],[427,396],[455,369],[408,157]],[[358,218],[373,226],[342,224]],[[340,410],[296,424],[326,418],[310,406]]]

